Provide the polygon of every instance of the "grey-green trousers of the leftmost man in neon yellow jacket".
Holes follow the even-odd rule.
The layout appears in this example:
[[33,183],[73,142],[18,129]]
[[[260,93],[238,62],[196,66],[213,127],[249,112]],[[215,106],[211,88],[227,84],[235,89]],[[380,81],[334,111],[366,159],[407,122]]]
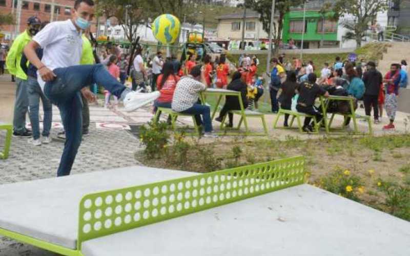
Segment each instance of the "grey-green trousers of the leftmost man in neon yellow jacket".
[[15,133],[26,132],[26,113],[29,106],[27,80],[16,78],[16,99],[14,101],[13,130]]

